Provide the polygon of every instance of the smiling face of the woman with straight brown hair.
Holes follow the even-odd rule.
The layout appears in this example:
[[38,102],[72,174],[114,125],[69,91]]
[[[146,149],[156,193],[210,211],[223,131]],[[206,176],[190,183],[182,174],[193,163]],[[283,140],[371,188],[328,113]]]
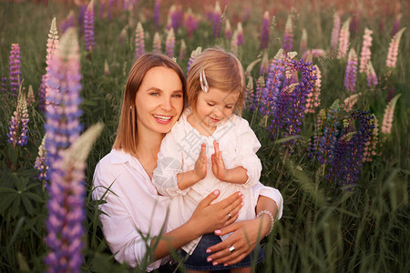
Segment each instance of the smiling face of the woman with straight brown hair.
[[178,74],[166,66],[149,69],[135,99],[138,132],[168,133],[178,120],[183,103]]

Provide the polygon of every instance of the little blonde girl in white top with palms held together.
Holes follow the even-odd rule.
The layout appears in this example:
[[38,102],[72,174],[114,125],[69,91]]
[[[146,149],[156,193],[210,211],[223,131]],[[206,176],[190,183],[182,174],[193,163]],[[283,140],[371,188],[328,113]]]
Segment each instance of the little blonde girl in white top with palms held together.
[[[153,175],[159,193],[172,197],[168,229],[185,223],[200,200],[215,188],[220,189],[219,198],[241,191],[243,207],[238,219],[255,217],[257,200],[251,187],[261,176],[261,161],[255,154],[261,144],[248,122],[233,114],[241,113],[244,86],[240,61],[221,48],[205,50],[192,63],[187,80],[190,107],[162,140]],[[166,116],[162,118],[166,120]],[[236,211],[227,217],[234,214]],[[264,210],[261,214],[269,215],[273,225],[270,212]],[[206,234],[183,246],[182,254],[190,255],[185,267],[190,272],[221,268],[251,271],[252,253],[230,267],[215,265],[207,258],[208,248],[229,236]],[[235,247],[229,250],[235,251]],[[261,247],[254,251],[259,254],[255,261],[261,261]]]

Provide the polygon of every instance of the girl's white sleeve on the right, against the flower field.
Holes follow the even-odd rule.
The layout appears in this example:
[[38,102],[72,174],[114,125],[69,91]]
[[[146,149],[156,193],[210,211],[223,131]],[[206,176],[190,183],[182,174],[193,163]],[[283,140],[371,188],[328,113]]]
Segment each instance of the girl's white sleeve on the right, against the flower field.
[[247,170],[248,180],[243,185],[245,187],[253,187],[261,177],[261,160],[256,156],[261,143],[255,133],[253,133],[248,121],[239,116],[238,119],[236,131],[236,154],[238,157],[235,157],[234,165],[244,167]]

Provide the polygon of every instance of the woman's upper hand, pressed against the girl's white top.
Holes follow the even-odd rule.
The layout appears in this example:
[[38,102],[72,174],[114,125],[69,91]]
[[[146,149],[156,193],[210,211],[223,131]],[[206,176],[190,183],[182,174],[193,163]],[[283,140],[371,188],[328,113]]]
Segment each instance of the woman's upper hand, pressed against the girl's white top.
[[210,193],[200,201],[190,217],[190,222],[194,224],[197,231],[200,231],[200,235],[214,232],[216,228],[231,225],[238,218],[238,212],[243,206],[242,193],[235,192],[218,203],[210,204],[219,195],[219,190]]

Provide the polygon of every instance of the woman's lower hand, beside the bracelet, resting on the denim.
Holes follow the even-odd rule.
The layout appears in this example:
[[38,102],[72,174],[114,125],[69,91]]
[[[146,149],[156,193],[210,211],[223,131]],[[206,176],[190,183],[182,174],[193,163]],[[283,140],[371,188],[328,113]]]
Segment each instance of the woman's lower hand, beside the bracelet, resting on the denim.
[[[263,230],[266,229],[264,220],[265,218],[258,217],[215,230],[215,234],[218,236],[233,233],[229,238],[207,249],[207,253],[213,252],[207,260],[214,266],[220,264],[229,266],[240,262],[251,253],[256,244],[267,233]],[[232,246],[235,248],[233,251],[229,249]]]

